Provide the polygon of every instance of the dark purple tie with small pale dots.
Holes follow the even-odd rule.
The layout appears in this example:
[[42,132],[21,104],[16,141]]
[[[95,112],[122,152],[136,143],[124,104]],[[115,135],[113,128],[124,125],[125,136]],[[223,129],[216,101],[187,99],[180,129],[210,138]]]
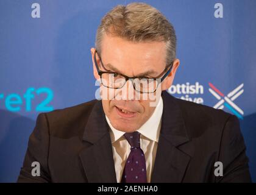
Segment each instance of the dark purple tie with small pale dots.
[[124,166],[121,183],[146,183],[146,160],[140,148],[140,133],[124,133],[124,137],[130,144],[130,154]]

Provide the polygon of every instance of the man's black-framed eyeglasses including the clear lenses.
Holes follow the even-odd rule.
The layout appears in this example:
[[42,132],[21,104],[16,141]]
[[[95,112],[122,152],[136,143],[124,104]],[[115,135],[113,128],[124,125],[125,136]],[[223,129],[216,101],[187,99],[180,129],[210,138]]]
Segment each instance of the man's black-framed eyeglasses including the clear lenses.
[[[101,71],[99,69],[99,65],[96,60],[96,53],[98,54],[98,52],[97,51],[94,52],[94,64],[96,66],[99,76],[101,77],[101,83],[104,87],[113,88],[113,89],[123,88],[127,80],[131,80],[134,90],[140,93],[154,93],[155,90],[157,90],[158,85],[163,82],[163,80],[168,76],[169,73],[171,73],[172,64],[173,64],[173,61],[172,61],[171,64],[166,66],[166,68],[163,70],[163,72],[160,75],[154,78],[128,77],[124,74],[115,73],[112,71]],[[101,56],[99,54],[98,54],[98,57],[101,62],[101,65],[103,66],[104,69],[106,69],[104,64],[102,63]],[[165,73],[167,69],[168,71]],[[163,77],[161,77],[162,75]]]

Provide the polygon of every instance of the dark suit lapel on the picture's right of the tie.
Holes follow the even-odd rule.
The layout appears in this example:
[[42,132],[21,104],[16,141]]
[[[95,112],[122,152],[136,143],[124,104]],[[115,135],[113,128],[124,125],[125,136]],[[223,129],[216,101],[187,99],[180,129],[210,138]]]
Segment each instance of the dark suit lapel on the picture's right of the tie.
[[[182,182],[190,161],[189,152],[186,152],[190,151],[186,147],[190,138],[176,99],[166,91],[162,98],[162,127],[151,182]],[[179,149],[181,145],[182,149]]]

